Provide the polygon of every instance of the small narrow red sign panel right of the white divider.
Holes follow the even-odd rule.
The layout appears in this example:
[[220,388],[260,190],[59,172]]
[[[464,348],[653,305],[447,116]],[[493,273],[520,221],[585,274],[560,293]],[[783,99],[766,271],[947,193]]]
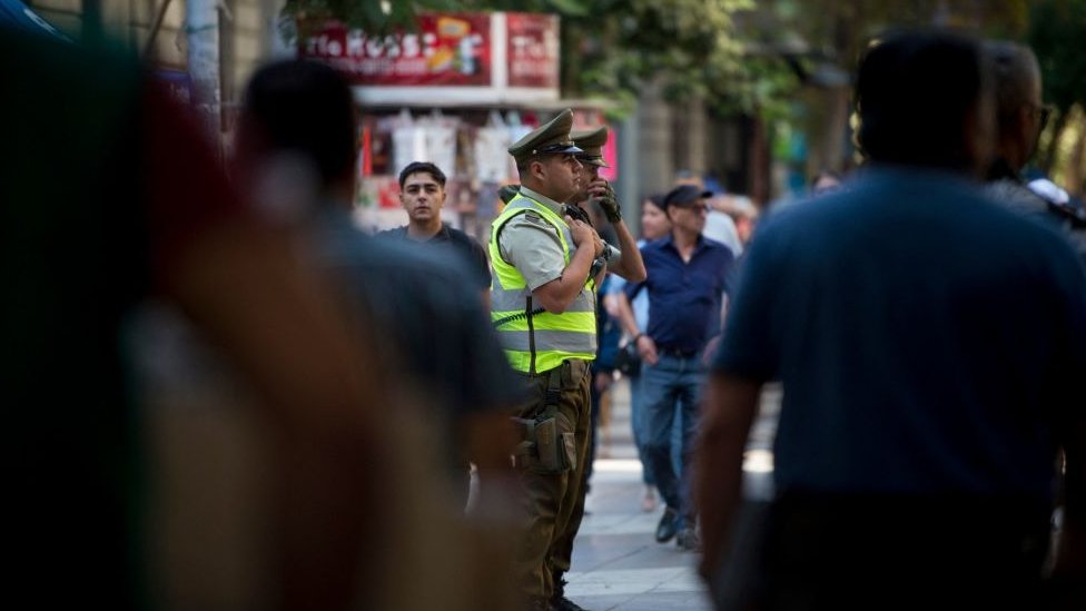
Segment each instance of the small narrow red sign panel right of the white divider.
[[506,58],[511,87],[559,86],[559,18],[525,12],[505,13]]

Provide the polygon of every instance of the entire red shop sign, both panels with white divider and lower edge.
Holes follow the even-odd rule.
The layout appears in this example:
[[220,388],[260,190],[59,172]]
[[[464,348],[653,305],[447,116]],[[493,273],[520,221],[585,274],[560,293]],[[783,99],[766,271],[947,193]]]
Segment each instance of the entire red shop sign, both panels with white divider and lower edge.
[[418,28],[368,37],[337,21],[299,28],[298,53],[327,61],[363,102],[501,105],[559,99],[559,18],[423,13]]

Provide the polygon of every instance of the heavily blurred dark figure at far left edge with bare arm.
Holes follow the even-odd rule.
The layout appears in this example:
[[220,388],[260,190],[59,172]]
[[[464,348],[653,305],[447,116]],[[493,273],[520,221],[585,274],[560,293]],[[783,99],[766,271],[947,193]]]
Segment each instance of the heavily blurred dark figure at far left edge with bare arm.
[[[332,288],[227,184],[192,117],[137,66],[0,28],[0,387],[8,594],[34,607],[169,607],[129,318],[178,306],[257,391],[278,454],[264,603],[354,598],[389,401]],[[274,329],[274,331],[273,331]],[[357,329],[364,334],[364,328]],[[363,335],[363,344],[367,339]],[[319,500],[319,502],[318,502]],[[168,509],[168,507],[167,507]],[[250,601],[251,602],[251,601]]]

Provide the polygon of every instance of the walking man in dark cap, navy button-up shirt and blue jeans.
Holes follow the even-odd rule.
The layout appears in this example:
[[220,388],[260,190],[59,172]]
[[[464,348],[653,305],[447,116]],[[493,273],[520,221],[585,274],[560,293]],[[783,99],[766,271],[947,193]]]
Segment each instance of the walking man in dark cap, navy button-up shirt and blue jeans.
[[[668,505],[656,528],[656,541],[664,543],[678,533],[679,546],[687,550],[699,546],[688,474],[705,380],[703,356],[715,347],[720,335],[721,297],[734,260],[727,246],[702,235],[711,196],[692,185],[675,187],[667,195],[664,211],[671,219],[671,234],[641,248],[648,278],[625,288],[629,299],[649,289],[649,328],[638,328],[631,316],[623,319],[644,363],[645,459]],[[678,473],[671,459],[677,415],[682,427]]]

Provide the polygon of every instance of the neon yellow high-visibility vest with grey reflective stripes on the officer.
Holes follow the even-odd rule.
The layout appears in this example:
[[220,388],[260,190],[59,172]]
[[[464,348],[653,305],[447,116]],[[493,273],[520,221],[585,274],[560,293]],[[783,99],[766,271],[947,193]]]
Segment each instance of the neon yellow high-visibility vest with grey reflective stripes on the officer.
[[557,367],[566,358],[595,358],[595,294],[592,290],[594,283],[588,278],[562,314],[529,314],[539,304],[532,303],[532,292],[520,270],[502,258],[497,243],[502,227],[516,215],[529,210],[535,211],[557,229],[566,265],[573,256],[573,234],[565,220],[529,197],[517,195],[513,198],[491,226],[488,249],[494,267],[491,321],[514,317],[496,329],[505,355],[514,369],[541,373]]

